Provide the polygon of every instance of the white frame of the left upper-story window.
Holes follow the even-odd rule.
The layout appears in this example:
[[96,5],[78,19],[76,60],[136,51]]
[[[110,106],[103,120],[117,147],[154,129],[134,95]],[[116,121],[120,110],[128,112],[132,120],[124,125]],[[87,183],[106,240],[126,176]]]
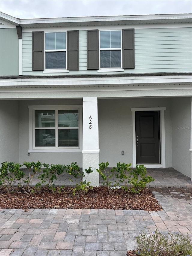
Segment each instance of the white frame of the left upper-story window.
[[[44,37],[44,70],[43,73],[69,73],[69,71],[67,70],[67,31],[49,31],[49,32],[45,32],[45,35],[47,33],[65,33],[65,43],[66,43],[66,47],[64,50],[46,50],[45,47],[45,41],[46,41],[46,36]],[[65,52],[66,53],[66,68],[46,68],[46,52]]]

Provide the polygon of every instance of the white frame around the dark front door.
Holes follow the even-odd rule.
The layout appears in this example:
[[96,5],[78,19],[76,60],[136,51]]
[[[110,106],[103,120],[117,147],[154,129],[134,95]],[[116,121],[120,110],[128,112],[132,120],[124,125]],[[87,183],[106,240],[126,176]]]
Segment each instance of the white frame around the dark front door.
[[133,167],[136,167],[136,144],[135,144],[135,112],[136,111],[160,111],[160,143],[161,143],[161,164],[144,164],[147,168],[165,168],[165,110],[166,107],[140,107],[131,108],[133,126]]

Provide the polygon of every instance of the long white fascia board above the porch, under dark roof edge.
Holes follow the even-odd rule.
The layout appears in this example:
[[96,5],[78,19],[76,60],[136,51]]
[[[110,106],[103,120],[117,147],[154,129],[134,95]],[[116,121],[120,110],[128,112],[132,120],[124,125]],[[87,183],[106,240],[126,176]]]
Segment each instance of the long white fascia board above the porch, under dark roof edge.
[[185,84],[191,83],[191,76],[180,77],[113,77],[113,78],[47,78],[47,79],[2,79],[0,80],[0,87],[2,86],[67,86],[67,87],[94,87],[94,86],[140,86],[140,85],[164,85],[164,84]]

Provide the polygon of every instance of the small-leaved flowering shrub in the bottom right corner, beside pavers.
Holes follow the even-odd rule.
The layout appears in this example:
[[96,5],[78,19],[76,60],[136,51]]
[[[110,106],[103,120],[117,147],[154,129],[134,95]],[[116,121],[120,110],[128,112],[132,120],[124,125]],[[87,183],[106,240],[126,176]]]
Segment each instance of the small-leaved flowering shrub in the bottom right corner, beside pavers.
[[181,234],[169,233],[164,236],[155,230],[152,236],[145,233],[136,237],[138,250],[137,255],[140,256],[191,256],[192,244],[190,238],[183,237]]

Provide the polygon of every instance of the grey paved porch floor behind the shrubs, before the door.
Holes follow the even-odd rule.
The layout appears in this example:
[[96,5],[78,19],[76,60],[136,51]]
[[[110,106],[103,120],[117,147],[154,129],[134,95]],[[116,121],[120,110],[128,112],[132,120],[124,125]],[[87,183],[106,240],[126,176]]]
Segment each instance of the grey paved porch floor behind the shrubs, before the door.
[[[29,173],[27,169],[23,169],[26,175]],[[174,168],[147,168],[147,175],[152,176],[155,180],[147,184],[147,187],[151,188],[191,188],[192,182],[191,179],[184,174],[178,172]],[[77,179],[73,179],[73,182],[69,180],[73,179],[67,173],[61,174],[58,179],[55,181],[55,186],[75,186],[78,182]],[[35,185],[38,182],[37,176],[33,179],[32,185]],[[100,185],[102,179],[100,177]]]

